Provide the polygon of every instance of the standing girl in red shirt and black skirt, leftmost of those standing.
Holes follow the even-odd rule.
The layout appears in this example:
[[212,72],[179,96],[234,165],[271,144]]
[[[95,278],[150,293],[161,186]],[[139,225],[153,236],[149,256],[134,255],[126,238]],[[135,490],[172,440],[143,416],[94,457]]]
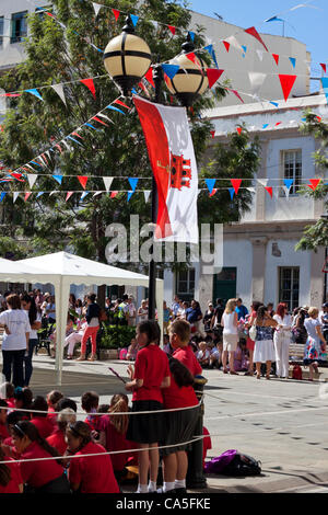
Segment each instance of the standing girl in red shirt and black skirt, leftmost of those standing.
[[[145,320],[137,327],[137,354],[134,373],[128,368],[131,381],[126,384],[128,391],[133,391],[132,413],[139,411],[163,410],[162,388],[169,386],[167,355],[159,347],[161,330],[157,322]],[[139,485],[138,493],[156,491],[159,472],[159,442],[163,439],[163,414],[130,414],[127,439],[137,442],[139,447]],[[151,450],[145,450],[151,447]],[[148,472],[150,469],[150,483]]]

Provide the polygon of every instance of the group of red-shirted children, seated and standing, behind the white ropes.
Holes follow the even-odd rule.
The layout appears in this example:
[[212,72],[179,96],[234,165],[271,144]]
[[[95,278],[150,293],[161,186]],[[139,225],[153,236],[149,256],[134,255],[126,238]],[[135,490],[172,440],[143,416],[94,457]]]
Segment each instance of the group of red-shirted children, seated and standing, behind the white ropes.
[[[77,403],[60,391],[34,397],[28,387],[3,384],[0,492],[118,493],[131,476],[138,493],[186,492],[189,443],[200,409],[194,382],[202,368],[189,345],[187,321],[171,324],[173,356],[161,350],[160,337],[155,321],[138,324],[139,351],[126,384],[131,408],[126,393],[99,405],[99,396],[86,391],[81,397],[86,417],[80,421]],[[203,465],[209,442],[207,436]],[[160,462],[162,489],[156,484]]]

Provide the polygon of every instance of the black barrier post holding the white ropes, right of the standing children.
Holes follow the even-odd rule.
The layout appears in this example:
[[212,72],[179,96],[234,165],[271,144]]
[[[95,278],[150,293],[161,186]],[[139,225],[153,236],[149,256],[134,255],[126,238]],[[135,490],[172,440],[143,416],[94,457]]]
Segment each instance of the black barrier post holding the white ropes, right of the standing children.
[[[202,376],[195,377],[194,388],[196,390],[196,396],[199,401],[201,401],[199,414],[197,417],[197,423],[195,426],[195,434],[202,435],[202,425],[203,425],[203,412],[204,405],[202,401],[203,387],[208,380]],[[198,439],[191,444],[191,450],[188,451],[188,471],[186,477],[186,487],[187,489],[206,489],[207,480],[202,469],[202,448],[203,448],[203,438]]]

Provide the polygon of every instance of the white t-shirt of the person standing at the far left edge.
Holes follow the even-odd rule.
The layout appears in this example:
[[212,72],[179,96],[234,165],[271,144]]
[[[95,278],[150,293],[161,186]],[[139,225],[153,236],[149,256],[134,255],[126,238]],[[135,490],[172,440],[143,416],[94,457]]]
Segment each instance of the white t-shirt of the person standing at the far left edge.
[[26,348],[26,333],[31,333],[27,311],[8,309],[0,313],[0,323],[5,324],[10,334],[3,333],[2,351],[23,351]]

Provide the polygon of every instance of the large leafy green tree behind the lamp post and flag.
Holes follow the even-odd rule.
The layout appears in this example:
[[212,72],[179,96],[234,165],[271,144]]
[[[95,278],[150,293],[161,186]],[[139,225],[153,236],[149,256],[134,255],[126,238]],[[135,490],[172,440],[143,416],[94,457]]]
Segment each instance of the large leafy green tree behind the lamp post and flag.
[[[140,16],[136,32],[148,42],[154,62],[165,61],[180,53],[180,45],[186,39],[190,23],[190,13],[185,5],[165,0],[145,0],[142,3],[136,0],[103,0],[102,3]],[[24,93],[9,101],[11,108],[0,134],[0,159],[12,170],[47,151],[54,141],[60,141],[119,95],[116,85],[105,73],[102,53],[92,45],[104,49],[108,41],[121,32],[125,15],[121,13],[116,22],[112,9],[103,8],[95,18],[91,1],[54,0],[52,4],[57,20],[67,28],[46,14],[35,13],[28,16],[26,59],[0,78],[0,88],[4,91],[39,88],[44,99],[42,102]],[[185,34],[178,33],[173,37],[167,27],[161,24],[156,27],[152,20],[181,27]],[[198,27],[195,45],[196,48],[204,45],[201,27]],[[210,64],[207,53],[202,54],[202,57]],[[95,81],[95,99],[79,83],[79,79],[90,77],[99,77]],[[40,89],[43,85],[60,82],[68,82],[63,87],[67,104],[51,88]],[[189,113],[198,160],[210,142],[212,128],[210,122],[200,118],[199,114],[225,94],[220,84],[211,91],[214,95],[209,93],[198,99]],[[128,99],[125,102],[132,105]],[[43,170],[37,168],[37,171],[44,174],[37,180],[37,191],[52,191],[56,184],[51,174],[55,173],[63,175],[61,190],[65,191],[77,190],[79,183],[75,175],[94,178],[87,182],[90,191],[104,190],[104,175],[115,178],[112,190],[118,191],[130,188],[127,178],[151,176],[144,138],[136,111],[131,110],[130,114],[126,115],[110,112],[108,115],[114,125],[104,127],[94,122],[97,131],[83,128],[80,133],[83,137],[83,149],[75,142],[70,142],[70,150],[62,153],[57,150],[51,152],[47,167]],[[251,175],[256,160],[251,158],[251,165],[247,169],[243,163],[244,158],[242,159],[243,156],[246,159],[251,153],[248,153],[246,148],[247,138],[246,133],[242,137],[234,136],[231,151],[225,154],[224,165],[215,170],[209,168],[206,172],[211,170],[215,174],[220,172],[222,176],[231,178],[238,170],[241,174]],[[17,185],[9,183],[3,187],[10,191],[16,190]],[[151,190],[151,181],[140,180],[140,187]],[[28,184],[25,184],[25,190],[30,190]],[[83,202],[80,196],[81,193],[75,193],[66,202],[63,193],[51,196],[44,194],[37,199],[34,194],[26,203],[19,198],[13,205],[11,196],[7,195],[2,203],[7,227],[1,229],[0,236],[10,236],[19,245],[22,237],[28,238],[31,247],[37,253],[69,247],[82,256],[106,262],[105,248],[108,239],[105,231],[109,224],[119,221],[129,227],[130,214],[140,216],[140,225],[150,221],[151,206],[150,203],[144,203],[143,194],[136,193],[129,203],[126,193],[119,193],[116,198],[109,198],[108,195],[93,198],[92,194],[89,194]],[[208,202],[215,206],[211,210],[212,216]],[[201,194],[199,220],[227,221],[230,215],[235,220],[249,204],[248,192],[238,195],[234,208],[231,207],[227,192],[220,193],[215,199],[210,201]],[[31,251],[23,245],[22,251],[24,250],[26,254]]]

